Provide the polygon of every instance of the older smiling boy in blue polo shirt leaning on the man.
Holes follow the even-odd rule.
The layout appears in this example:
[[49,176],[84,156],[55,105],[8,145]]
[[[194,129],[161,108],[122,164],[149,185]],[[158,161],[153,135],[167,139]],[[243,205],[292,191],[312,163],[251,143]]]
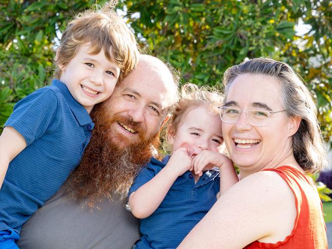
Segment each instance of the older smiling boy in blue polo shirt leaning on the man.
[[[63,32],[55,80],[20,100],[0,136],[0,248],[54,195],[90,141],[93,106],[136,65],[135,36],[109,3]],[[58,80],[59,79],[59,80]]]

